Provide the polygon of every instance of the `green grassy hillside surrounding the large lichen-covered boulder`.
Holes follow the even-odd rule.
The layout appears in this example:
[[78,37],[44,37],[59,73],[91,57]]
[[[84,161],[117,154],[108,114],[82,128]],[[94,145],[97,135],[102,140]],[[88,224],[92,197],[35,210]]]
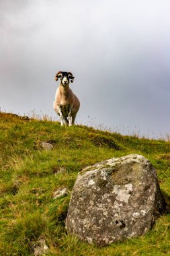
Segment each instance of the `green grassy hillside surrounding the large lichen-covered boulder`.
[[[43,150],[43,141],[52,143],[53,150]],[[34,255],[40,238],[46,241],[47,255],[170,255],[169,212],[145,236],[105,248],[82,243],[65,230],[77,173],[132,153],[151,160],[170,204],[170,142],[0,113],[0,255]],[[68,195],[54,199],[62,187]]]

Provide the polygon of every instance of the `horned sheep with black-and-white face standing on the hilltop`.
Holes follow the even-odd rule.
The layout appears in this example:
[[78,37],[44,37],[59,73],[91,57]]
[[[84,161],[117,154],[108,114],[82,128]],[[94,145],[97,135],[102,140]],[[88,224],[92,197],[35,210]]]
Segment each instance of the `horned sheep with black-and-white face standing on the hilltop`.
[[[73,94],[69,87],[70,79],[71,83],[74,81],[74,76],[71,72],[58,71],[55,76],[57,81],[60,78],[60,86],[56,90],[54,99],[54,111],[60,116],[60,125],[63,126],[63,120],[66,125],[75,125],[75,117],[79,110],[80,102],[75,94]],[[69,118],[69,121],[67,119]]]

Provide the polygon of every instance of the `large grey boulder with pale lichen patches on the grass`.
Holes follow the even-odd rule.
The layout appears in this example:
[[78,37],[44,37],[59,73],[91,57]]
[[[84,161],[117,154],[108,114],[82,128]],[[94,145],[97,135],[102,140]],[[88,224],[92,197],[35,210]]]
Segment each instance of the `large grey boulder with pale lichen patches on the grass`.
[[155,169],[143,156],[132,154],[79,173],[66,228],[83,241],[104,246],[146,233],[164,210]]

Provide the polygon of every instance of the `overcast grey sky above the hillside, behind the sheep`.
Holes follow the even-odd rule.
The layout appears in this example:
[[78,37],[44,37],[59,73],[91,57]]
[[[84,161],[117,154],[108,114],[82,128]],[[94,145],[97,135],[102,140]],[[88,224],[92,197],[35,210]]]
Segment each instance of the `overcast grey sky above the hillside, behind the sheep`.
[[71,71],[77,123],[170,133],[169,11],[169,0],[1,0],[1,108],[55,117],[54,76]]

